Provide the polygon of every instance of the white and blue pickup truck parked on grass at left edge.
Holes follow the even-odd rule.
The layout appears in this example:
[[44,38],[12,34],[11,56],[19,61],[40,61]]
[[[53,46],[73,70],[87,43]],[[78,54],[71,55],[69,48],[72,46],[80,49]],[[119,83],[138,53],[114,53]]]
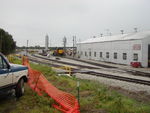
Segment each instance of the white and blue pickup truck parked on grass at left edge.
[[28,80],[28,68],[26,66],[11,64],[0,53],[0,93],[15,89],[16,97],[24,94],[24,82]]

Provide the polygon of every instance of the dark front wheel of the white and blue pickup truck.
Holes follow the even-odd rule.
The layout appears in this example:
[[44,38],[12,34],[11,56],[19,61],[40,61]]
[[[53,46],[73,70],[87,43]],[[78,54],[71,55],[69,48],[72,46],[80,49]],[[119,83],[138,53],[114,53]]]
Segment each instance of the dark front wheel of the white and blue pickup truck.
[[15,89],[16,97],[19,98],[24,94],[24,80],[20,79],[16,89]]

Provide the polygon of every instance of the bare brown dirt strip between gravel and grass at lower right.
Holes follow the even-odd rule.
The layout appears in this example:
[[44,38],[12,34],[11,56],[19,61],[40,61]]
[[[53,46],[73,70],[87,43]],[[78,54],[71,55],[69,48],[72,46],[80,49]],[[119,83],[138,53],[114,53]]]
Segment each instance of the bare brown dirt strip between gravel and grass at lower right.
[[132,92],[126,89],[123,89],[121,87],[113,87],[113,86],[109,86],[110,90],[116,90],[119,93],[134,98],[135,100],[139,101],[139,102],[144,102],[144,103],[148,103],[150,102],[150,94],[148,94],[146,91],[136,91],[136,92]]

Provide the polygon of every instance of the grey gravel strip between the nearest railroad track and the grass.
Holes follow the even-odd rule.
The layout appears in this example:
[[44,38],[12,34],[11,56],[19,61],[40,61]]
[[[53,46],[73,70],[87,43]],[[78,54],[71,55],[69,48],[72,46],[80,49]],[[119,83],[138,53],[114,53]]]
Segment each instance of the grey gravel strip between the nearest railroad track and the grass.
[[80,74],[80,73],[76,73],[75,75],[77,78],[80,79],[94,80],[108,86],[120,87],[124,90],[131,91],[131,92],[145,92],[146,94],[150,95],[150,86],[147,85],[129,83],[125,81],[113,80],[113,79],[108,79],[103,77],[96,77],[96,76]]

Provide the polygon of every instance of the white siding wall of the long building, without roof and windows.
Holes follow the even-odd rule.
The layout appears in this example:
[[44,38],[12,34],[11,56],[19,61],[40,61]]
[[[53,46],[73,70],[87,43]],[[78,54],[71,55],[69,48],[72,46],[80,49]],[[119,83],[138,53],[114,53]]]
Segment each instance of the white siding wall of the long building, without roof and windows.
[[[77,51],[79,53],[87,51],[87,56],[84,54],[78,54],[83,59],[93,59],[106,62],[113,62],[118,64],[127,64],[130,65],[133,62],[133,54],[138,54],[137,62],[141,62],[143,67],[147,67],[147,58],[146,53],[148,53],[148,42],[150,40],[126,40],[126,41],[113,41],[113,42],[96,42],[96,43],[83,43],[77,44]],[[139,46],[139,48],[138,48]],[[141,48],[140,48],[141,47]],[[91,56],[89,56],[91,52]],[[96,57],[94,56],[96,52]],[[102,56],[100,57],[100,52]],[[106,58],[106,52],[109,52],[109,58]],[[114,59],[114,53],[117,53],[117,59]],[[127,59],[123,60],[123,53],[127,54]]]

